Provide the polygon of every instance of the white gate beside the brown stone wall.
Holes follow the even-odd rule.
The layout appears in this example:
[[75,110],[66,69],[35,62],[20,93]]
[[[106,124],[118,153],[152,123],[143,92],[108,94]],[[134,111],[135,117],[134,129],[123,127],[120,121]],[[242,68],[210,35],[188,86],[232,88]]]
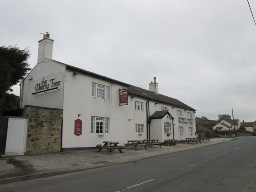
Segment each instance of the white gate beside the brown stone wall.
[[28,120],[26,118],[9,118],[5,155],[24,155],[26,152],[26,135]]

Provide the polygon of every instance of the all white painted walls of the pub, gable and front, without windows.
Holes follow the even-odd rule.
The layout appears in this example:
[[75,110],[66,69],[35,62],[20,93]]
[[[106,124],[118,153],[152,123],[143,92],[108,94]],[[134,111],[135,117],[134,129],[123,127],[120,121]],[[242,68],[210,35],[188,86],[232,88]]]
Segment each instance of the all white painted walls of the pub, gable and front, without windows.
[[[24,80],[23,104],[33,106],[44,106],[50,108],[63,108],[63,148],[86,148],[95,147],[96,144],[102,144],[103,141],[117,141],[120,145],[124,145],[127,140],[143,140],[147,138],[146,131],[146,102],[145,98],[131,98],[128,96],[128,105],[119,106],[119,92],[123,85],[102,80],[92,76],[83,74],[73,75],[74,71],[66,70],[62,64],[58,64],[52,60],[45,60],[36,65],[30,74]],[[52,90],[47,93],[36,92],[35,86],[42,83],[42,79],[47,80],[55,78],[60,81],[59,90]],[[100,100],[92,97],[92,82],[110,87],[110,101]],[[134,108],[134,102],[143,102],[143,111],[137,111]],[[161,106],[168,107],[170,114],[174,117],[174,133],[167,137],[164,134],[164,119],[152,120],[150,124],[150,138],[165,139],[173,138],[177,140],[185,140],[187,137],[195,137],[195,116],[192,111],[172,107],[167,104],[156,104],[154,101],[149,102],[150,115],[161,110]],[[179,121],[177,110],[182,110],[183,118],[187,118],[187,112],[192,114],[192,125],[186,126]],[[78,117],[78,114],[82,114]],[[91,116],[110,118],[109,134],[98,137],[98,134],[90,133]],[[74,134],[74,120],[82,120],[82,135]],[[164,117],[168,120],[167,116]],[[129,121],[130,120],[130,121]],[[169,120],[168,120],[169,121]],[[144,124],[144,133],[142,135],[135,132],[135,124]],[[178,133],[178,126],[184,127],[184,133]],[[193,127],[193,135],[188,132],[188,127]]]

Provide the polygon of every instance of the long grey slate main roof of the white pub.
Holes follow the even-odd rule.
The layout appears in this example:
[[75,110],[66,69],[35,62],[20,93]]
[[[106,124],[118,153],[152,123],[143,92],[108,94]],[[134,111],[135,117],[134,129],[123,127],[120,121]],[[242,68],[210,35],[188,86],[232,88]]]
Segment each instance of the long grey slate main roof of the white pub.
[[169,104],[169,105],[174,106],[174,107],[180,107],[180,108],[196,111],[192,107],[180,102],[178,99],[171,98],[171,97],[168,97],[168,96],[165,96],[165,95],[162,95],[162,94],[156,94],[152,91],[142,89],[142,88],[139,88],[139,87],[136,87],[136,86],[124,83],[124,82],[120,82],[118,80],[114,80],[112,78],[108,78],[106,76],[102,76],[102,75],[99,75],[99,74],[96,74],[96,73],[93,73],[93,72],[90,72],[90,71],[87,71],[87,70],[84,70],[84,69],[81,69],[81,68],[78,68],[78,67],[74,67],[74,66],[56,61],[56,60],[52,60],[52,61],[66,66],[67,69],[75,70],[77,72],[88,74],[88,75],[94,76],[96,78],[100,78],[100,79],[103,79],[103,80],[107,80],[107,81],[110,81],[110,82],[115,82],[115,83],[118,83],[120,85],[126,86],[126,87],[128,87],[128,94],[130,94],[130,95],[139,96],[139,97],[142,97],[142,98],[154,100],[156,102],[166,103],[166,104]]

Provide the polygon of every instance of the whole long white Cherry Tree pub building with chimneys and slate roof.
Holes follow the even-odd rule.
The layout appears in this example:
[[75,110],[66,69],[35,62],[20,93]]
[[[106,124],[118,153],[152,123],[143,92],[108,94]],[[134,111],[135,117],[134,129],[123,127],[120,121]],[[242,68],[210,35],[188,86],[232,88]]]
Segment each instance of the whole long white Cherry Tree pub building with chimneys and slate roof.
[[156,78],[149,90],[132,86],[53,60],[54,40],[48,33],[38,42],[37,65],[20,86],[20,108],[62,110],[62,150],[92,148],[103,141],[124,145],[127,140],[195,137],[196,110],[159,94]]

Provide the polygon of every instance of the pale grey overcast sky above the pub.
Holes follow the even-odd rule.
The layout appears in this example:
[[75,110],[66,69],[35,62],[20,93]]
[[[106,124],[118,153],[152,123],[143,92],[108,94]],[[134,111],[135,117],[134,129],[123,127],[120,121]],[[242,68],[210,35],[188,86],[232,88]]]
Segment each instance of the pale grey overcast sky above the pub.
[[146,89],[156,77],[160,94],[198,117],[233,108],[240,122],[256,120],[256,26],[246,0],[1,0],[0,19],[0,46],[28,47],[30,68],[47,31],[54,60]]

